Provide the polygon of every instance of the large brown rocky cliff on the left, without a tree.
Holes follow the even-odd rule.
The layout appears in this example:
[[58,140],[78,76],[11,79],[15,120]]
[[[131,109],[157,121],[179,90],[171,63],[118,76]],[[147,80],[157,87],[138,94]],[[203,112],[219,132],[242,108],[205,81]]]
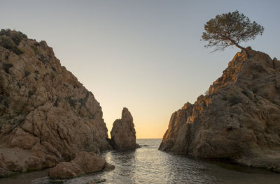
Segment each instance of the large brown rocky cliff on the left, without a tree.
[[111,148],[102,108],[51,47],[0,32],[0,176]]

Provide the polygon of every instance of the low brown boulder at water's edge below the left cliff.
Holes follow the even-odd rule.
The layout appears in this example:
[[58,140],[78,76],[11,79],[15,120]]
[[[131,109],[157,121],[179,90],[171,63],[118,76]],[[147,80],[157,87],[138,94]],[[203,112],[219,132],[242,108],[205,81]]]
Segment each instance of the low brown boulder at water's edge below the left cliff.
[[61,162],[49,170],[50,178],[74,178],[103,169],[115,169],[102,156],[92,152],[79,152],[71,162]]

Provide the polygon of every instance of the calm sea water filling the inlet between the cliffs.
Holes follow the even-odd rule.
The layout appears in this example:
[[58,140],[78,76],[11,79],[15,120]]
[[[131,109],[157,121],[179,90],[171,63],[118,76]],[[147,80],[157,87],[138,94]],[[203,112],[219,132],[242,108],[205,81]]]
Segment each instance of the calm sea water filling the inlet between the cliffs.
[[0,179],[2,183],[190,183],[190,184],[274,184],[280,174],[265,169],[240,167],[221,162],[194,160],[158,151],[161,139],[137,139],[142,146],[135,151],[110,151],[103,156],[114,164],[113,171],[102,171],[63,181],[50,181],[47,170]]

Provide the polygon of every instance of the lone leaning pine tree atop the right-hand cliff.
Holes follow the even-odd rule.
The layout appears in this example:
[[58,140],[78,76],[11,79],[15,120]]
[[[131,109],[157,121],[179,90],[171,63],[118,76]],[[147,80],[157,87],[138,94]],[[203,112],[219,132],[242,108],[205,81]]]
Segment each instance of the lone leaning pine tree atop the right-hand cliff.
[[[239,45],[240,42],[254,40],[262,35],[264,28],[255,21],[251,22],[243,13],[235,12],[216,15],[214,19],[204,24],[206,32],[202,33],[202,39],[209,43],[205,47],[216,47],[216,50],[224,50],[226,47],[235,45],[239,49],[245,50]],[[246,51],[248,55],[248,52]]]

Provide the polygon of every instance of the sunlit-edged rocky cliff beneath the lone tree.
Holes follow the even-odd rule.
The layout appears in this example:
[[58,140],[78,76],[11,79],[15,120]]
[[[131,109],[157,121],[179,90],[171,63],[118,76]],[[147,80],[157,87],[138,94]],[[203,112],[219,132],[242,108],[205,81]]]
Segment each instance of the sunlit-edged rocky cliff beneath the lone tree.
[[172,114],[162,151],[280,171],[280,61],[247,49],[209,94]]

